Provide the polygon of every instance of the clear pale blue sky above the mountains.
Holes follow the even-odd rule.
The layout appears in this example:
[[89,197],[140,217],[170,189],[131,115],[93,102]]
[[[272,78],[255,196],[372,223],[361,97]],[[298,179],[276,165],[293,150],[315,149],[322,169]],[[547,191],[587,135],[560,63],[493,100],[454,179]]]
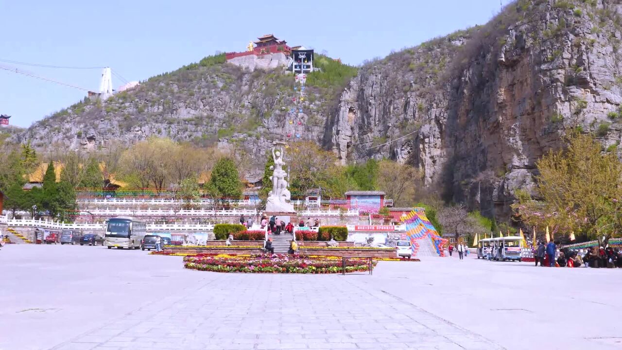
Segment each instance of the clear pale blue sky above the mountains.
[[[326,50],[359,65],[483,24],[500,9],[499,0],[314,0],[300,11],[297,3],[0,0],[0,60],[109,66],[127,80],[144,80],[216,51],[245,50],[249,40],[272,33],[290,45]],[[101,69],[0,66],[99,88]],[[113,76],[113,87],[121,84]],[[12,115],[12,125],[30,126],[84,96],[75,88],[0,70],[0,114]]]

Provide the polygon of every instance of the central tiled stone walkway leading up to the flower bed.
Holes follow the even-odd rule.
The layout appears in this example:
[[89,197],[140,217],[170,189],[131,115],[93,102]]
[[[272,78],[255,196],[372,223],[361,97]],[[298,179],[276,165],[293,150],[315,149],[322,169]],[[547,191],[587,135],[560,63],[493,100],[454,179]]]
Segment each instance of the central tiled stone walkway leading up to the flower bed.
[[57,349],[503,349],[343,277],[213,275]]

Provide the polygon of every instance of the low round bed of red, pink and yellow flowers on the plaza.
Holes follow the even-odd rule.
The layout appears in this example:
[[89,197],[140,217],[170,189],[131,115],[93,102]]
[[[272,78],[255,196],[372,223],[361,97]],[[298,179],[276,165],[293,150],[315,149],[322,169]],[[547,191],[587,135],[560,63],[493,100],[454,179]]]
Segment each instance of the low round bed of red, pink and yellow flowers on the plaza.
[[[376,263],[373,262],[374,265]],[[341,258],[280,254],[199,254],[183,258],[183,267],[201,271],[244,273],[340,273],[342,270]],[[367,259],[346,260],[346,272],[366,272],[368,268]]]

